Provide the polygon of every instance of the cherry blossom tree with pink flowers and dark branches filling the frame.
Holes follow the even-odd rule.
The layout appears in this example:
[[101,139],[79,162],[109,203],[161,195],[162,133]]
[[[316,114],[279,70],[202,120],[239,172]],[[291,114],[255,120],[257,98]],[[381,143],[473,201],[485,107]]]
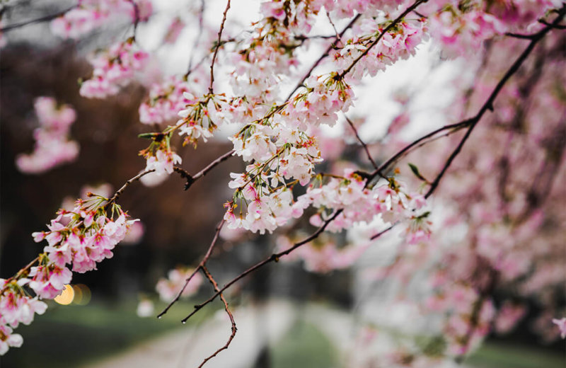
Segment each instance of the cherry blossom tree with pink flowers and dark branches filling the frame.
[[[249,22],[231,0],[190,1],[167,17],[157,3],[79,0],[28,20],[11,13],[16,1],[2,5],[4,47],[13,30],[31,23],[49,23],[74,45],[125,24],[126,34],[86,56],[92,71],[79,93],[105,99],[129,84],[145,86],[139,139],[148,143],[137,176],[124,178],[116,192],[93,190],[60,209],[47,229],[31,234],[45,245],[42,253],[15,275],[2,275],[2,355],[22,345],[19,323],[48,313],[43,300],[60,294],[74,272],[96,270],[139,231],[138,219],[119,204],[131,185],[179,176],[190,190],[221,165],[233,167],[226,178],[232,194],[207,252],[156,283],[169,303],[158,317],[203,281],[212,294],[183,322],[215,299],[224,304],[227,341],[201,367],[236,336],[225,295],[234,284],[279,260],[324,273],[350,268],[371,251],[384,261],[364,270],[365,280],[398,286],[381,306],[414,311],[413,333],[437,346],[431,352],[401,339],[383,352],[376,347],[386,338],[380,321],[362,314],[348,366],[460,362],[487,334],[512,330],[528,300],[541,309],[538,333],[565,338],[563,1],[262,1],[257,13],[248,12]],[[192,40],[179,74],[168,72],[144,40],[155,39],[156,24],[165,23],[159,47],[186,50],[175,48],[183,33]],[[422,73],[456,71],[446,84],[449,96],[427,96],[424,113],[418,83],[380,85],[396,65],[423,52],[434,65]],[[387,104],[395,113],[379,117]],[[69,133],[72,106],[40,97],[35,115],[35,148],[18,156],[19,170],[37,175],[80,156]],[[218,141],[233,149],[197,173],[183,168],[183,153]],[[207,263],[216,244],[250,233],[270,234],[272,255],[231,280],[212,275]]]

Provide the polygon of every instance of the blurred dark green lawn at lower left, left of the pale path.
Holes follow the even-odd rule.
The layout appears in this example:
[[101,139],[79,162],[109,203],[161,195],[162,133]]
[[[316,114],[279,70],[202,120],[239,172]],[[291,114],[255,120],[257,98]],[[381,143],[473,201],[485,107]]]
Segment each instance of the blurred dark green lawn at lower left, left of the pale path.
[[[13,348],[0,357],[2,368],[79,367],[121,352],[162,333],[183,328],[180,323],[190,303],[175,305],[161,319],[139,318],[134,304],[89,304],[59,306],[50,304],[43,316],[35,316],[30,326],[20,325],[23,346]],[[164,304],[157,304],[160,311]],[[197,314],[190,323],[197,323],[214,311]]]

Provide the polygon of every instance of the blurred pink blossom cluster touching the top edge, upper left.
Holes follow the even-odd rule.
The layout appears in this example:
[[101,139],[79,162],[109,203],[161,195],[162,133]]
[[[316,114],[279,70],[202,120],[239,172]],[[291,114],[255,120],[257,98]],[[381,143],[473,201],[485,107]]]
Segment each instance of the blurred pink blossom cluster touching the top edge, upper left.
[[139,21],[147,21],[153,13],[151,0],[79,0],[72,8],[51,22],[51,30],[62,38],[79,39],[95,28],[127,18],[136,21],[136,9]]

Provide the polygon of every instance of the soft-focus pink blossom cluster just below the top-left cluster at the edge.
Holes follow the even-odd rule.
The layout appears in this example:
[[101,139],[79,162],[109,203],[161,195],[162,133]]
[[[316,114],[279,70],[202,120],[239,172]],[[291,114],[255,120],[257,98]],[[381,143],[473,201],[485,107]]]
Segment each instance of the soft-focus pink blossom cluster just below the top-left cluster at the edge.
[[135,74],[147,64],[149,54],[137,50],[133,40],[118,42],[91,59],[94,68],[91,79],[83,81],[79,93],[86,98],[105,98],[115,95],[129,84]]

